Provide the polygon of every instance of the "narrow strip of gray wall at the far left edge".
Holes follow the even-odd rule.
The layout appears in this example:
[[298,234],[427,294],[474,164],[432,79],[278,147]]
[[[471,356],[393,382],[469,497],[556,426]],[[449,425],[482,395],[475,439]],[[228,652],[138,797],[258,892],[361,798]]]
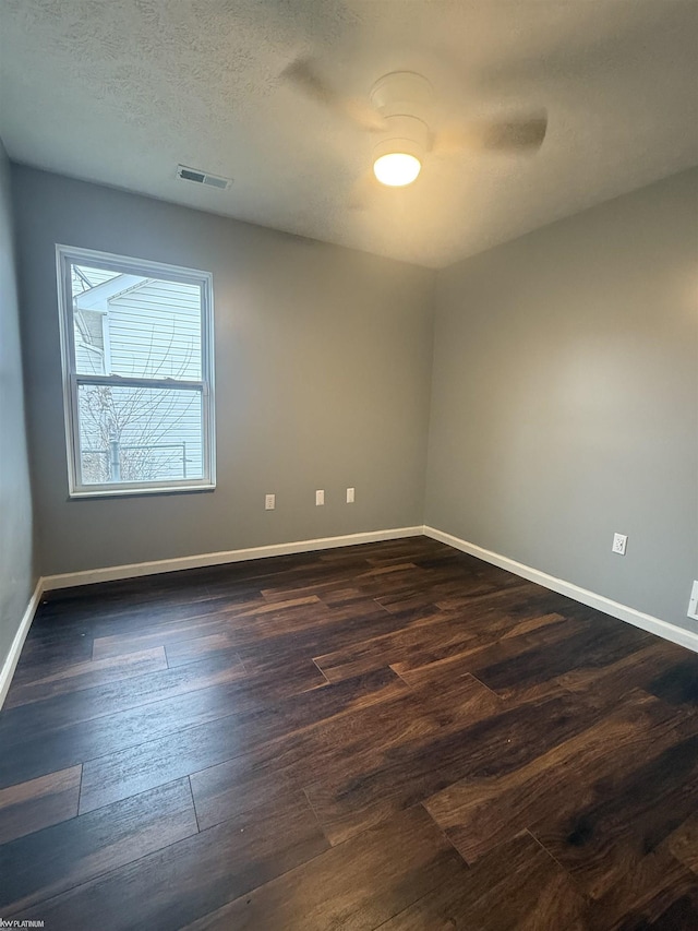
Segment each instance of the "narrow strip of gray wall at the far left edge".
[[10,164],[0,142],[0,667],[36,584]]

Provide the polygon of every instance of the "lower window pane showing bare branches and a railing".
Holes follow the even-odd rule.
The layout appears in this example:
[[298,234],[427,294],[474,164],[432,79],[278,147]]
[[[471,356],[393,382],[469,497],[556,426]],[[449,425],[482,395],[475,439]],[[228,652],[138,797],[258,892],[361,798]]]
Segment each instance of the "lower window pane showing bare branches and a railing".
[[200,391],[81,384],[77,406],[83,484],[203,477]]

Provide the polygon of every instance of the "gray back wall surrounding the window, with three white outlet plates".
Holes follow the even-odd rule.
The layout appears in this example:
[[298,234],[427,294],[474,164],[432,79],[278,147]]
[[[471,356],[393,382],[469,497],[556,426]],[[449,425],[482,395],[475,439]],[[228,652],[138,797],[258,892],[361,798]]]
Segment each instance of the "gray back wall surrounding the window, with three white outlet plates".
[[[433,272],[29,168],[13,180],[44,575],[421,524]],[[215,492],[68,500],[56,242],[213,272]]]

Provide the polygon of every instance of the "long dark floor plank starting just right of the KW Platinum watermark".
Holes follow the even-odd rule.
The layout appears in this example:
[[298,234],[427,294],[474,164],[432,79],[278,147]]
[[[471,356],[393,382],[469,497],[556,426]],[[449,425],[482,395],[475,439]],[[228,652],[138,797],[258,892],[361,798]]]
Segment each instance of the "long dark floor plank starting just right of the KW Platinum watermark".
[[302,795],[226,821],[17,915],[59,931],[178,931],[327,849]]

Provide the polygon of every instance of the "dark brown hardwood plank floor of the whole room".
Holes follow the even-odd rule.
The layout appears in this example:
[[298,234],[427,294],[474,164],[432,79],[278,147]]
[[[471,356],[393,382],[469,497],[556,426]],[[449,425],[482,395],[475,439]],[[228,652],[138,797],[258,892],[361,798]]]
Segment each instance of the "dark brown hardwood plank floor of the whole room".
[[47,596],[0,916],[698,929],[698,656],[424,537]]

